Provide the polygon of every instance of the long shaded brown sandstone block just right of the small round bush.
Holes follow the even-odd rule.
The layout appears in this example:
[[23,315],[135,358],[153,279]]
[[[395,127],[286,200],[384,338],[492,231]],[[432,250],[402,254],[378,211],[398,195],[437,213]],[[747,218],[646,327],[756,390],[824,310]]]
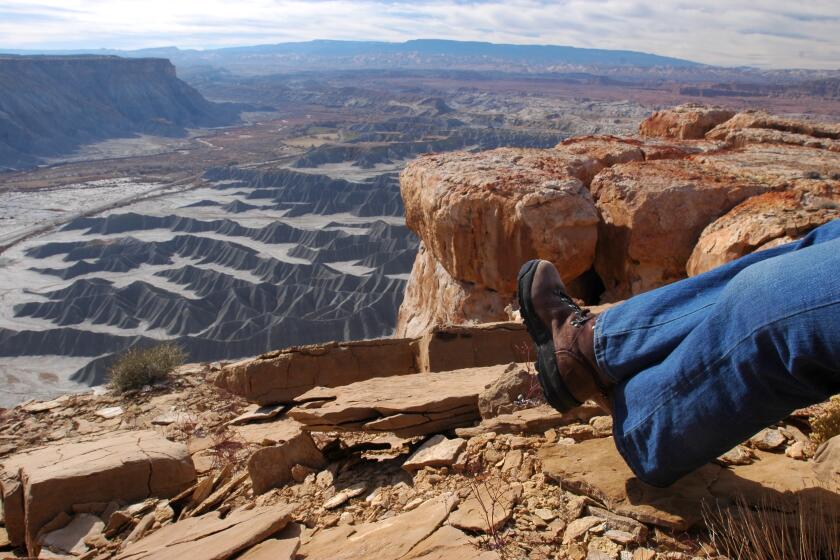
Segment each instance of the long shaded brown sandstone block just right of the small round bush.
[[250,402],[269,405],[290,403],[313,387],[414,372],[411,341],[383,338],[270,352],[225,367],[215,384]]

